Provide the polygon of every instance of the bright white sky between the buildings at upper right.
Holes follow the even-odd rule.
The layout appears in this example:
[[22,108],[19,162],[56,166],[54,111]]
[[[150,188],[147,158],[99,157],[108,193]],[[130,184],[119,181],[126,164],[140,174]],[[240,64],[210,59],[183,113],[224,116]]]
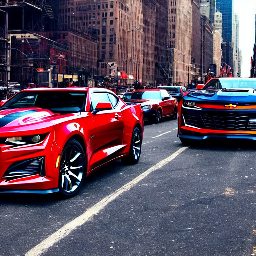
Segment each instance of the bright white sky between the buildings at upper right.
[[239,16],[239,48],[242,50],[242,77],[250,76],[251,56],[255,41],[256,0],[234,0],[234,13]]

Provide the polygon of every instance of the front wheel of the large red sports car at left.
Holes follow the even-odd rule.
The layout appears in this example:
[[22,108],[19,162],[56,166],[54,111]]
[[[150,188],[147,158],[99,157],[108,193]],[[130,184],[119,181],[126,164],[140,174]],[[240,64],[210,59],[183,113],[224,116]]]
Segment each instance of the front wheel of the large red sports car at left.
[[78,141],[67,141],[59,165],[59,193],[64,198],[74,196],[81,188],[87,170],[84,149]]

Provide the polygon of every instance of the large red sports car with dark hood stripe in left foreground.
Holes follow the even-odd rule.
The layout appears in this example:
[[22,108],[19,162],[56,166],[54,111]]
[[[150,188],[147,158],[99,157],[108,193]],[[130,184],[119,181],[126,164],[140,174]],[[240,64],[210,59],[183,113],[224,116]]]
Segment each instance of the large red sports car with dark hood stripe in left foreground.
[[84,178],[141,154],[143,110],[101,88],[26,89],[0,107],[0,192],[72,196]]

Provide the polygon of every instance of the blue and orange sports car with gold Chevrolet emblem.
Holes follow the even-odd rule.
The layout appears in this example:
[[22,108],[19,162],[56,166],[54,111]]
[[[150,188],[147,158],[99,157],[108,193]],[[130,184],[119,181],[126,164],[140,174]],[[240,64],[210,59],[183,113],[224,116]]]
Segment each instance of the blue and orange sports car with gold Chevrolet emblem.
[[214,78],[179,105],[183,144],[208,138],[256,140],[256,78]]

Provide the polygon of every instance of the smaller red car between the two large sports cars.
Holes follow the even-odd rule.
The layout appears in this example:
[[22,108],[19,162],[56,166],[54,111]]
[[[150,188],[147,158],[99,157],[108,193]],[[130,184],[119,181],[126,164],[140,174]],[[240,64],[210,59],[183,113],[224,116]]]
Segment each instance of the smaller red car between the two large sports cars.
[[178,102],[166,90],[144,89],[132,92],[130,103],[140,103],[144,117],[159,123],[162,117],[177,119]]

